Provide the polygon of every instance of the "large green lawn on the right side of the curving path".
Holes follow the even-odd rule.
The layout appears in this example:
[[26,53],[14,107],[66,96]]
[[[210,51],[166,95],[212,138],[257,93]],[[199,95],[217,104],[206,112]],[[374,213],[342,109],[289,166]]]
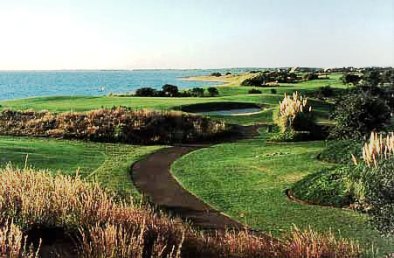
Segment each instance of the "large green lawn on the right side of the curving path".
[[365,215],[336,208],[300,205],[284,190],[308,174],[332,165],[316,159],[323,142],[267,143],[264,139],[216,145],[186,155],[172,167],[191,192],[231,217],[275,236],[294,224],[318,231],[332,229],[382,252],[394,240],[381,238]]

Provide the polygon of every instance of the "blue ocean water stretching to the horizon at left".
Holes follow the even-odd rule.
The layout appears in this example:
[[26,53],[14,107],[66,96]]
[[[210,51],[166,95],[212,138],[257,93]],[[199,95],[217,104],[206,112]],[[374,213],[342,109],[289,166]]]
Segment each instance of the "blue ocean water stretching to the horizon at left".
[[177,85],[180,89],[220,84],[181,80],[211,72],[212,70],[0,71],[0,100],[128,93],[140,87],[160,89],[166,83]]

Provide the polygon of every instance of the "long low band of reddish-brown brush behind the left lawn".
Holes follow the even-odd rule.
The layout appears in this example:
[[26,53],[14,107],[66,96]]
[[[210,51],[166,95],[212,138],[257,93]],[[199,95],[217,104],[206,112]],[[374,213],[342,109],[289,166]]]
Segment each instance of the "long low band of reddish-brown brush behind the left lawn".
[[223,122],[176,111],[100,109],[87,113],[0,112],[0,134],[131,144],[193,142],[225,133]]

